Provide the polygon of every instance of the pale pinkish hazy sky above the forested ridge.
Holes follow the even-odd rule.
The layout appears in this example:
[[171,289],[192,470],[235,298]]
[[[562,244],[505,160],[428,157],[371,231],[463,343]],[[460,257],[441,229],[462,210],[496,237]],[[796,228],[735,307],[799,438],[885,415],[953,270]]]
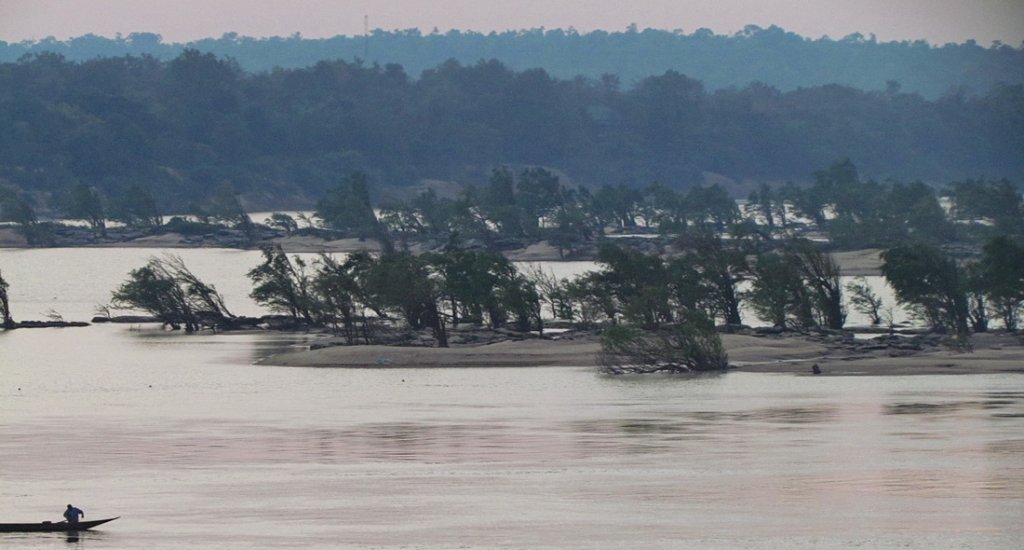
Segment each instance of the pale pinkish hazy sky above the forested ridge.
[[0,40],[93,33],[160,34],[165,41],[240,35],[318,38],[371,29],[481,32],[574,27],[580,32],[706,27],[732,34],[749,24],[803,36],[933,44],[1024,42],[1024,0],[0,0]]

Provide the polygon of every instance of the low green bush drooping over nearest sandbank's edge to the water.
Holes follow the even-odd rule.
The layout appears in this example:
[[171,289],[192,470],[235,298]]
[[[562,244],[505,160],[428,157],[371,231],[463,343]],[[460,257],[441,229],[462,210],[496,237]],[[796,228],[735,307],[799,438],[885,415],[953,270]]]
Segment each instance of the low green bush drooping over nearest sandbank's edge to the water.
[[609,327],[601,333],[601,365],[611,374],[723,371],[729,357],[705,318],[658,331]]

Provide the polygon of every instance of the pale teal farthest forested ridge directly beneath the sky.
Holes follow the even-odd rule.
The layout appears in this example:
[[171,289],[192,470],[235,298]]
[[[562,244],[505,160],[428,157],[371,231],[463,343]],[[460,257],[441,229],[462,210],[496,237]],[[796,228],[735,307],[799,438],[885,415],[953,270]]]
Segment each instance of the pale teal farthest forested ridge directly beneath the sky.
[[878,42],[853,34],[839,40],[809,39],[778,27],[749,26],[732,36],[707,29],[637,30],[580,34],[572,29],[480,34],[451,31],[421,34],[417,30],[375,30],[369,36],[325,39],[249,38],[229,33],[187,44],[165,43],[160,35],[133,33],[115,39],[86,35],[68,41],[47,38],[0,42],[0,61],[26,53],[60,53],[72,60],[121,55],[153,55],[170,60],[185,48],[229,56],[249,72],[297,69],[321,60],[355,58],[368,64],[398,64],[419,75],[447,59],[473,65],[498,59],[512,70],[544,69],[560,79],[599,79],[614,75],[627,87],[666,71],[702,81],[711,90],[762,82],[783,91],[841,84],[882,91],[900,83],[928,98],[957,93],[985,93],[998,82],[1024,82],[1024,50],[993,43],[933,46],[928,42]]

